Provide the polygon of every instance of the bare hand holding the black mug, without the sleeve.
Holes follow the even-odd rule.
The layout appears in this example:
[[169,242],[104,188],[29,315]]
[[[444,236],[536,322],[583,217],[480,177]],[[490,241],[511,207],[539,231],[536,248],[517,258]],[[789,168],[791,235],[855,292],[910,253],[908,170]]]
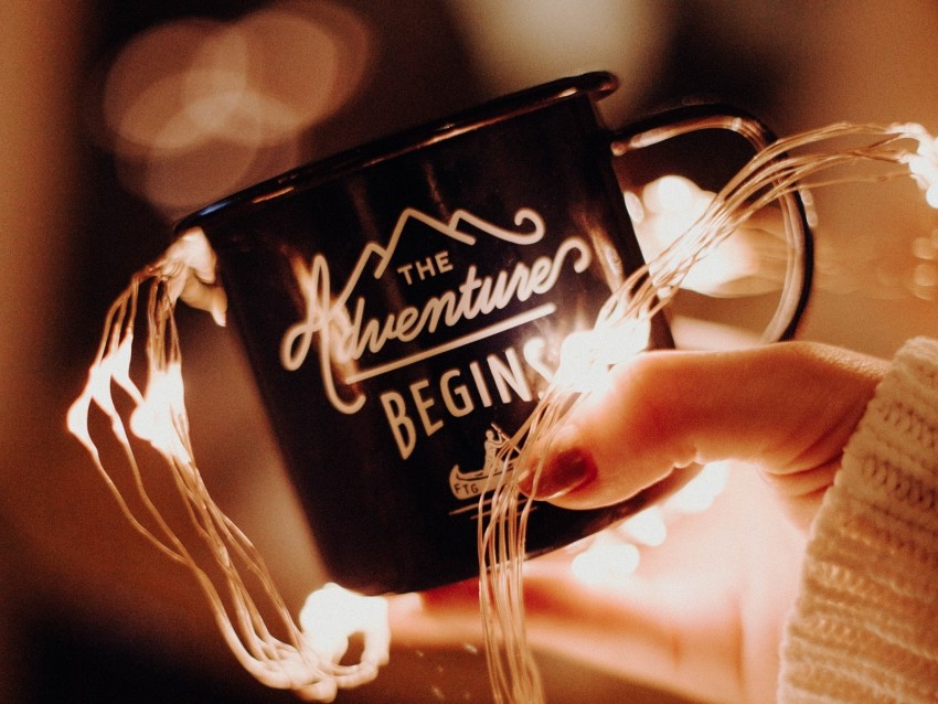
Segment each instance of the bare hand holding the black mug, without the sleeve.
[[[579,584],[563,554],[525,568],[535,649],[694,700],[774,702],[781,625],[802,535],[886,364],[809,343],[718,353],[653,352],[614,371],[548,448],[539,495],[568,508],[630,497],[691,461],[754,462],[707,513],[615,588]],[[402,602],[398,642],[478,638],[478,591],[460,584]]]

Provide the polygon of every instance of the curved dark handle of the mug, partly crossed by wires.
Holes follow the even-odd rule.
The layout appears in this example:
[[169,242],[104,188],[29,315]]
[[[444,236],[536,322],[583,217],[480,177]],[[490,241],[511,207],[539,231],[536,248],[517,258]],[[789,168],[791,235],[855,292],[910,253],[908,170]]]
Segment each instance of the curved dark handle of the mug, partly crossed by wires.
[[[775,141],[775,135],[756,117],[726,105],[692,105],[665,110],[611,134],[614,157],[651,147],[668,139],[706,129],[726,129],[746,139],[756,152]],[[778,342],[795,337],[808,305],[814,270],[814,242],[800,191],[779,199],[788,244],[788,263],[778,308],[763,340]]]

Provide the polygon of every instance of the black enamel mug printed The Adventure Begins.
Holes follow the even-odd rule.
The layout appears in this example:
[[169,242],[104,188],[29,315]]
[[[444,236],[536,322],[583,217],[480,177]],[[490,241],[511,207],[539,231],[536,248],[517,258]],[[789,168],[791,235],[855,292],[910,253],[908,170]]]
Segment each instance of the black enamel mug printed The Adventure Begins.
[[[373,595],[478,574],[487,458],[534,408],[564,339],[589,329],[643,264],[615,154],[702,124],[754,149],[771,139],[753,118],[717,111],[610,131],[596,103],[616,86],[597,72],[515,93],[178,224],[201,228],[216,254],[330,579]],[[797,194],[788,202],[798,262],[775,337],[793,330],[810,281],[803,207]],[[673,346],[662,316],[642,346]],[[527,554],[591,534],[686,478],[598,510],[536,502]]]

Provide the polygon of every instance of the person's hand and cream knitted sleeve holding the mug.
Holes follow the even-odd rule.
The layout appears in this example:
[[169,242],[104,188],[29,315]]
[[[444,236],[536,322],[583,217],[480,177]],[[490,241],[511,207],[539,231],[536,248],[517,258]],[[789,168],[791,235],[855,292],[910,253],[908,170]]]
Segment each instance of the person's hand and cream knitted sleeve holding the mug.
[[[747,608],[758,582],[747,565],[714,588],[680,590],[676,604],[678,574],[604,600],[535,561],[533,646],[568,642],[694,700],[936,701],[938,341],[910,340],[891,363],[811,342],[654,351],[614,380],[548,448],[537,498],[595,508],[691,461],[754,462],[807,534],[803,556],[789,552],[785,565],[801,559],[795,604]],[[784,559],[782,547],[765,551]],[[426,594],[419,614],[395,617],[397,632],[445,631],[471,612],[472,588]],[[574,629],[588,649],[551,634]]]

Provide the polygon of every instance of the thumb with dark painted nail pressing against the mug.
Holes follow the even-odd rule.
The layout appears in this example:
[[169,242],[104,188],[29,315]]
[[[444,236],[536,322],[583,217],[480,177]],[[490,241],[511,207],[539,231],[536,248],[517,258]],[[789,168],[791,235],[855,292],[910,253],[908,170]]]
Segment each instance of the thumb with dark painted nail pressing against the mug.
[[721,459],[759,462],[791,498],[822,493],[885,367],[803,342],[641,354],[556,433],[535,497],[605,505]]

